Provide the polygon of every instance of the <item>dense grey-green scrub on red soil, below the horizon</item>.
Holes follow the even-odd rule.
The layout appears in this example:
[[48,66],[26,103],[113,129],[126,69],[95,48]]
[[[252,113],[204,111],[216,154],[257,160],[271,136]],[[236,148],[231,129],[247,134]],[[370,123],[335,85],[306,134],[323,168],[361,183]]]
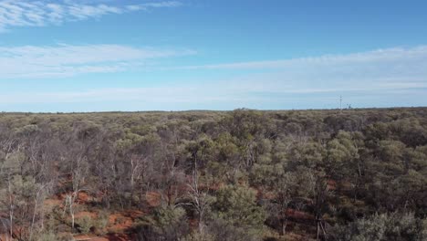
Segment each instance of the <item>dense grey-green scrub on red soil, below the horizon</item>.
[[427,240],[427,109],[3,113],[0,178],[1,240]]

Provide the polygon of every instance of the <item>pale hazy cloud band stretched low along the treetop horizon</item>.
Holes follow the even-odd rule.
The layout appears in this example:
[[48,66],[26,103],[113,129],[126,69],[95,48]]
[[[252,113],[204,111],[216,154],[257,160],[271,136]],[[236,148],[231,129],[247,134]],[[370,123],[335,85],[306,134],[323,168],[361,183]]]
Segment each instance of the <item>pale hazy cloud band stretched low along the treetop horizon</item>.
[[[151,106],[161,106],[161,110],[197,109],[192,106],[227,105],[229,108],[255,107],[256,104],[268,106],[268,103],[286,104],[289,108],[301,102],[309,102],[309,106],[330,107],[337,104],[339,93],[346,93],[345,101],[353,104],[369,102],[373,98],[389,98],[393,95],[422,96],[425,94],[427,83],[401,83],[399,85],[382,85],[334,89],[334,88],[276,88],[258,89],[248,82],[244,88],[237,82],[226,86],[229,81],[204,84],[181,84],[174,86],[158,86],[152,88],[116,88],[116,89],[86,89],[80,91],[59,92],[26,92],[8,93],[0,96],[0,104],[27,103],[91,103],[96,102],[132,102]],[[423,89],[422,89],[423,88]],[[378,94],[380,93],[380,95]],[[359,100],[358,100],[359,98]],[[399,98],[399,97],[396,97]],[[392,100],[390,100],[392,102]],[[374,104],[374,103],[371,103]],[[425,104],[425,102],[424,102]],[[188,106],[185,108],[185,106]],[[182,108],[179,108],[182,107]]]

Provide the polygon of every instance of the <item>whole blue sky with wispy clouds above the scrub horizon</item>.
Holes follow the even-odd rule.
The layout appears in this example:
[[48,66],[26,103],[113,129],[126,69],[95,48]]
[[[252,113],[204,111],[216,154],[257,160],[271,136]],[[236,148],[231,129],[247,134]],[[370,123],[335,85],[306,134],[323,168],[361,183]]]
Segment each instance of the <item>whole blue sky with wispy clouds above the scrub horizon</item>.
[[427,1],[0,0],[0,111],[427,106]]

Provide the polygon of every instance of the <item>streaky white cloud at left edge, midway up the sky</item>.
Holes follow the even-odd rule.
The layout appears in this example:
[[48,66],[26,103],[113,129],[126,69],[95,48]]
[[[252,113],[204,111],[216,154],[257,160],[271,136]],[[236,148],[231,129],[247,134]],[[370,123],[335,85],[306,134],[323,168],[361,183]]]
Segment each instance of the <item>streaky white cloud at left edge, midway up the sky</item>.
[[141,68],[149,60],[195,54],[189,49],[120,45],[0,47],[0,79],[68,77]]

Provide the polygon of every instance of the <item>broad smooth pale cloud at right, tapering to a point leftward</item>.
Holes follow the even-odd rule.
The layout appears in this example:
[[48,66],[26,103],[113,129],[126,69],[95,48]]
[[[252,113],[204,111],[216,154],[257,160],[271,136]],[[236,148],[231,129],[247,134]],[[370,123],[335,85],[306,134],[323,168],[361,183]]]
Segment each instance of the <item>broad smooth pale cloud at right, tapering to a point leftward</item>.
[[[427,46],[346,55],[174,67],[177,71],[234,71],[224,82],[246,92],[326,93],[427,88]],[[248,74],[249,72],[249,74]]]

